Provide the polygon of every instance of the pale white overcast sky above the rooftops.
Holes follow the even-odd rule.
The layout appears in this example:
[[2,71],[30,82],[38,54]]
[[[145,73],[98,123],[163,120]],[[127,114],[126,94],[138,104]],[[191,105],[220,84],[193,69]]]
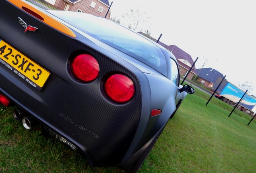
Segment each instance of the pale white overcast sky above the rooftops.
[[[145,12],[151,36],[176,45],[196,68],[211,67],[239,87],[252,83],[256,95],[256,10],[253,0],[109,0],[111,16],[124,22],[130,9]],[[127,20],[127,19],[126,19]],[[140,31],[140,30],[135,30]],[[207,61],[206,61],[207,59]]]

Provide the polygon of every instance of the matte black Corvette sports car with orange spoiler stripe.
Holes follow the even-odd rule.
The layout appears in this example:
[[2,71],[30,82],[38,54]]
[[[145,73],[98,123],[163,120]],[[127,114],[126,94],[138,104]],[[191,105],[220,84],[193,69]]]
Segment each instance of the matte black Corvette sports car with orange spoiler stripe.
[[140,34],[85,13],[0,2],[0,102],[92,166],[136,172],[187,93],[173,54]]

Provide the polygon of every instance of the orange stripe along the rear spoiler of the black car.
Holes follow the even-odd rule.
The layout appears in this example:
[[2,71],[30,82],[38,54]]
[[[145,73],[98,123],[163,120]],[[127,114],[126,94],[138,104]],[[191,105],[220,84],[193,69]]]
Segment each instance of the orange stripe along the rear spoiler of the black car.
[[[12,4],[14,4],[15,6],[21,8],[21,9],[22,9],[22,7],[29,8],[30,10],[32,10],[33,12],[39,14],[40,16],[42,16],[44,18],[43,21],[41,20],[42,22],[45,22],[46,24],[52,26],[53,28],[55,28],[69,36],[76,37],[74,32],[72,32],[72,30],[70,30],[67,26],[60,23],[58,20],[48,16],[45,12],[35,8],[34,6],[31,6],[30,4],[27,4],[26,1],[24,1],[24,0],[8,0],[8,1],[10,1]],[[23,11],[25,11],[25,10],[23,10]]]

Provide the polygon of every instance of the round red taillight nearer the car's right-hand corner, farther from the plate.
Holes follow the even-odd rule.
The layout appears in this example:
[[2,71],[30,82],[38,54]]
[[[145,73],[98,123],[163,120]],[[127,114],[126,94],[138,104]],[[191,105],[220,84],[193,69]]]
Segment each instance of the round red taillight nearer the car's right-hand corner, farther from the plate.
[[126,103],[130,101],[135,93],[132,80],[122,74],[110,76],[105,82],[104,90],[107,97],[116,103]]

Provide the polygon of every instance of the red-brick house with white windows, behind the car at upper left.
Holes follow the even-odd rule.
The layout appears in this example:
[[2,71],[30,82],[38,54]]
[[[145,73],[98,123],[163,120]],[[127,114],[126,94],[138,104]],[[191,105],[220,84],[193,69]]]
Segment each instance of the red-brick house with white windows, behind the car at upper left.
[[59,10],[84,12],[111,19],[108,0],[45,0]]

